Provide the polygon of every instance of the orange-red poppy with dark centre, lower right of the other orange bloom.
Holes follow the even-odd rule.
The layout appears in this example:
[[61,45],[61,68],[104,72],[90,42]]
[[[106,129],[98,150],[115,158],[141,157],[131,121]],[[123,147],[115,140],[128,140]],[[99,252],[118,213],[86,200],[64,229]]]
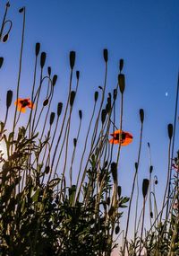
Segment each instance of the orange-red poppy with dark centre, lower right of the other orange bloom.
[[110,134],[113,138],[109,139],[111,144],[121,144],[121,146],[127,146],[132,143],[132,134],[123,130],[117,129],[114,133]]

